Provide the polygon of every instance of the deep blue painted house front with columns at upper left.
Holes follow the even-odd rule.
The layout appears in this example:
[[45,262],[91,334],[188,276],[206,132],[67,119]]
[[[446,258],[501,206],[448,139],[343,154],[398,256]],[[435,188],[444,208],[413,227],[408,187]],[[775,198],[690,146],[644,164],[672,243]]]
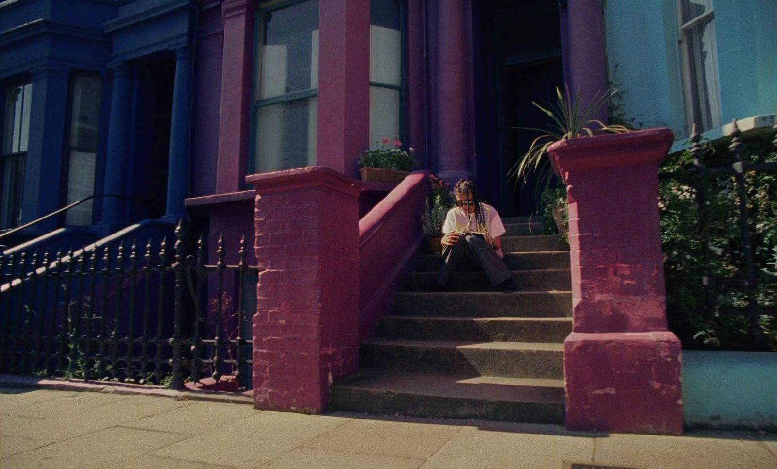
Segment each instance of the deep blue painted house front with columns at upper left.
[[[2,96],[20,83],[32,83],[33,89],[21,224],[66,205],[72,82],[85,73],[100,82],[94,187],[89,193],[135,201],[95,200],[91,224],[70,229],[73,233],[64,230],[68,241],[76,233],[77,241],[86,243],[141,220],[186,216],[195,4],[0,2]],[[0,119],[7,120],[5,113]],[[61,227],[68,228],[64,217],[52,217],[24,231],[16,242]],[[40,247],[54,245],[50,240]]]

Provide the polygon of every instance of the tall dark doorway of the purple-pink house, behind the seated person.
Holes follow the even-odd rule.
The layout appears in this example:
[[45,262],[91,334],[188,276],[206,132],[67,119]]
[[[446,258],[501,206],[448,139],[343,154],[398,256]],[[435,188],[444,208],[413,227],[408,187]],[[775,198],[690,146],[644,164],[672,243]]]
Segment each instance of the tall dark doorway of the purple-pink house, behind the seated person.
[[531,102],[552,102],[563,86],[557,0],[479,2],[476,54],[478,182],[503,216],[535,214],[544,184],[507,172],[552,121]]

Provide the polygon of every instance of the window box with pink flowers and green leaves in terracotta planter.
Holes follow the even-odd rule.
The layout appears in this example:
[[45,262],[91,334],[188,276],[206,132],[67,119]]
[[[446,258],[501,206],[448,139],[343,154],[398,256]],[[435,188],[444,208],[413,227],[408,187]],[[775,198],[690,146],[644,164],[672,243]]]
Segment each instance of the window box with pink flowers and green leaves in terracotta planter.
[[382,138],[378,148],[364,152],[359,158],[359,173],[363,181],[391,182],[399,184],[416,165],[413,148],[402,150],[399,138],[390,141]]

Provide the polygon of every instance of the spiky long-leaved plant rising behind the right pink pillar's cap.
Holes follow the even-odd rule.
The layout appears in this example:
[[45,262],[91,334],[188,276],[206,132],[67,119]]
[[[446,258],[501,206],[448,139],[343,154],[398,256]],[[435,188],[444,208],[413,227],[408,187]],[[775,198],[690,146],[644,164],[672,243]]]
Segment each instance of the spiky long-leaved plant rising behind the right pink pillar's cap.
[[[531,142],[529,149],[518,161],[515,162],[507,175],[516,179],[516,184],[521,179],[526,181],[529,174],[541,169],[545,162],[545,155],[548,153],[548,147],[557,141],[569,140],[577,137],[593,137],[596,134],[625,132],[629,130],[622,125],[605,125],[601,120],[594,119],[596,113],[602,106],[608,102],[608,99],[615,91],[596,93],[594,97],[584,105],[580,103],[580,90],[572,98],[570,89],[564,86],[564,93],[556,86],[556,95],[558,99],[555,102],[548,102],[545,106],[540,106],[536,102],[531,102],[537,106],[543,113],[547,114],[553,124],[549,129],[538,129],[535,127],[519,127],[526,130],[538,130],[545,132]],[[598,127],[594,127],[598,126]],[[545,165],[540,174],[540,184],[545,182],[545,188],[549,186],[552,169],[550,165]]]

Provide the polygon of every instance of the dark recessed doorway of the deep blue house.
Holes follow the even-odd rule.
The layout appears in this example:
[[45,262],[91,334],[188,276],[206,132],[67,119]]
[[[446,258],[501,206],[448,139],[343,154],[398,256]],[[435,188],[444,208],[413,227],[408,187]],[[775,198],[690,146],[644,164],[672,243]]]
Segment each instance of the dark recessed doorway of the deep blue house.
[[168,54],[146,57],[138,63],[130,193],[134,199],[150,203],[131,204],[133,221],[165,214],[175,74],[176,62]]

